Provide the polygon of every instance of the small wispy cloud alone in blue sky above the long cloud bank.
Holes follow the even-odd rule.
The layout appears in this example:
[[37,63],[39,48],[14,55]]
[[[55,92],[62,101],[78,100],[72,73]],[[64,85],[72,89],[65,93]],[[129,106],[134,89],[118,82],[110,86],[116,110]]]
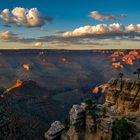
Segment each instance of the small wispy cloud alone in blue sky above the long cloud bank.
[[90,13],[90,17],[96,19],[96,20],[117,20],[117,17],[112,15],[112,14],[102,14],[99,13],[98,11],[93,11]]

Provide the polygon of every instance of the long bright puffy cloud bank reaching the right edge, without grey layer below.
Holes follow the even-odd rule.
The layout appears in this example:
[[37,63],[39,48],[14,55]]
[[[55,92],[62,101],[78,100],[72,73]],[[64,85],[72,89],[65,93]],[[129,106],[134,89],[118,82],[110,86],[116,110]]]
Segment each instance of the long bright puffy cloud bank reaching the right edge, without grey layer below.
[[77,28],[73,31],[68,31],[63,33],[64,37],[76,37],[76,36],[101,36],[101,35],[138,35],[140,33],[140,24],[137,25],[129,25],[125,27],[122,24],[119,23],[113,23],[113,24],[98,24],[95,26],[83,26],[80,28]]

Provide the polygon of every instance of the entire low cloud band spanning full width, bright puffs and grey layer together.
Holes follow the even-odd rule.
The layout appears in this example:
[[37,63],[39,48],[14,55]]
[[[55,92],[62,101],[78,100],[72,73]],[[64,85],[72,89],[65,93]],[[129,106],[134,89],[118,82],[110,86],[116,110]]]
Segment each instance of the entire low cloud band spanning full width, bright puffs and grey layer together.
[[140,41],[140,24],[124,26],[122,24],[98,24],[95,26],[83,26],[73,31],[68,31],[51,36],[38,38],[21,38],[11,32],[0,32],[0,39],[9,42],[29,44],[32,48],[83,46],[97,47],[107,46],[110,41]]

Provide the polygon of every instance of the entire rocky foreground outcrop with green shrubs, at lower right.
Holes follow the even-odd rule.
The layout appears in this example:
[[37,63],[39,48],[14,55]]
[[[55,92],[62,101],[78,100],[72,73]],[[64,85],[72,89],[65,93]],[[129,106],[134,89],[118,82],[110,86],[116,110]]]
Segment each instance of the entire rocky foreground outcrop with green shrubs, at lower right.
[[[73,105],[69,113],[68,126],[64,127],[60,122],[54,122],[45,133],[45,139],[118,140],[118,137],[122,140],[140,139],[139,111],[140,81],[111,79],[107,83],[106,101],[103,105],[96,104],[92,100]],[[119,136],[117,130],[125,132],[121,132],[122,135]]]

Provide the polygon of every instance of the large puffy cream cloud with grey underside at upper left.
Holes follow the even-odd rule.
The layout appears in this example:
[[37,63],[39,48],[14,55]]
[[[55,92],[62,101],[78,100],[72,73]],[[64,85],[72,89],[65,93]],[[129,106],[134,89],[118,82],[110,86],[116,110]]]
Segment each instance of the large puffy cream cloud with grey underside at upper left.
[[52,17],[43,16],[37,8],[25,9],[22,7],[16,7],[11,12],[9,9],[4,9],[0,13],[0,18],[6,23],[26,27],[42,27],[46,21],[52,21]]

